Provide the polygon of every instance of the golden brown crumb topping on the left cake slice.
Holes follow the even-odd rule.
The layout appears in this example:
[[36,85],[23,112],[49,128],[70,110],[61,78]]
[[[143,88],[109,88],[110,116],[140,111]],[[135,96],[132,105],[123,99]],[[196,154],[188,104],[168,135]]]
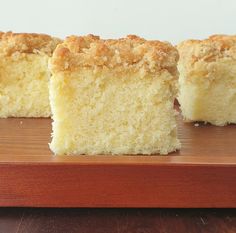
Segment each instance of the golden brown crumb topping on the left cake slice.
[[62,41],[45,34],[0,32],[0,54],[45,53],[52,55]]

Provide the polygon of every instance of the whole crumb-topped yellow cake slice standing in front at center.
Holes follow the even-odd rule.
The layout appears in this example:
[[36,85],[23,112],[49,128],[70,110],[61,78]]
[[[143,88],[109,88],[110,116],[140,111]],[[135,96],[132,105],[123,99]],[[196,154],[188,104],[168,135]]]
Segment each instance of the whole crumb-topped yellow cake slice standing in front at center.
[[177,60],[169,43],[136,36],[68,37],[50,60],[51,150],[92,155],[179,149]]

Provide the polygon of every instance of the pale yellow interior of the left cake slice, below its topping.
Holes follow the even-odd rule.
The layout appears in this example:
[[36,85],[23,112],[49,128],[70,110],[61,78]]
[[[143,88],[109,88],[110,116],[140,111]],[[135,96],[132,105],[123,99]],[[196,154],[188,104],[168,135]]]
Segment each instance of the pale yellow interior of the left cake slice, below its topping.
[[15,53],[0,59],[0,117],[48,117],[47,55]]

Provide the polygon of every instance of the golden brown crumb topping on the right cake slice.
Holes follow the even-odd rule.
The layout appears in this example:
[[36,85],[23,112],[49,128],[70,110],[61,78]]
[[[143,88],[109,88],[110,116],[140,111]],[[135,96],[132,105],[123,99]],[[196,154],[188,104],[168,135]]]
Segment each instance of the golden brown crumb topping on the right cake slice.
[[187,40],[178,46],[180,62],[193,65],[202,60],[205,62],[217,59],[236,59],[236,36],[213,35],[205,40]]

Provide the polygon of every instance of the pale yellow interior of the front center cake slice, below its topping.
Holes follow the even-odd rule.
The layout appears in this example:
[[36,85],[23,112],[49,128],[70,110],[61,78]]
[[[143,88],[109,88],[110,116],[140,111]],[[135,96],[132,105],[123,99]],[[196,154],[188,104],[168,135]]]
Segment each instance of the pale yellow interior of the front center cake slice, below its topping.
[[[167,154],[180,147],[173,77],[80,69],[50,81],[55,154]],[[170,81],[171,80],[171,81]]]

